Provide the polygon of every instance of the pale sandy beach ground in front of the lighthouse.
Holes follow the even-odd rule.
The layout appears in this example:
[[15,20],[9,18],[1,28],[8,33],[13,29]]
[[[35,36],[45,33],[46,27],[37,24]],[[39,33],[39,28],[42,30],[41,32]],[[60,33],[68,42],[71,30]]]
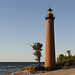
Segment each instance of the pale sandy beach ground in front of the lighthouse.
[[75,75],[75,68],[48,71],[46,73],[37,73],[37,74],[29,74],[28,71],[22,71],[6,75]]

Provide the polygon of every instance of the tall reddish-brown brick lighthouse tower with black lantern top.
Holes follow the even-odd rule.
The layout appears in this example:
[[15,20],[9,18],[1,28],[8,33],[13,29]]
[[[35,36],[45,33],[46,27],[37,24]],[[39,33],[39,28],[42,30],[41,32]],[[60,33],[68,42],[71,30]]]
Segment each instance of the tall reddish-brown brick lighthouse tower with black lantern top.
[[52,9],[48,9],[46,16],[46,49],[45,49],[45,67],[55,66],[55,41],[54,41],[54,19]]

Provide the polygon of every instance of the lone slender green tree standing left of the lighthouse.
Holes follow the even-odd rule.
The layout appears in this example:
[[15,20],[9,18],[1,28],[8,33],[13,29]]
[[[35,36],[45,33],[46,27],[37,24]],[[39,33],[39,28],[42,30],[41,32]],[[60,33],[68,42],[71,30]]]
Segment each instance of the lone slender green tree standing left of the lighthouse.
[[38,61],[38,65],[40,66],[40,59],[42,57],[41,51],[42,51],[42,44],[37,42],[34,43],[33,45],[31,45],[31,47],[33,48],[33,50],[35,51],[33,54],[36,56],[36,61]]

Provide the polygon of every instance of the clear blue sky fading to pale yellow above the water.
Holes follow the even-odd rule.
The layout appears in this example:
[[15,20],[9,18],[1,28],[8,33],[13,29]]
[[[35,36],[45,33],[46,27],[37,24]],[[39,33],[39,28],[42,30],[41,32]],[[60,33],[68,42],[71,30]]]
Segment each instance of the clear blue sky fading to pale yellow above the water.
[[0,62],[35,62],[30,44],[40,42],[45,61],[48,8],[55,16],[55,51],[75,55],[75,0],[0,0]]

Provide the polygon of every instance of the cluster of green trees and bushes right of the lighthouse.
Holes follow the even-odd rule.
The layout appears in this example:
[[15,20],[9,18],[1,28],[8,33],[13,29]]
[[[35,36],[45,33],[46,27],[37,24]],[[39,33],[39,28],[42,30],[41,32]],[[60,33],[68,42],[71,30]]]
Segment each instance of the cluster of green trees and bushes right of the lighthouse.
[[75,55],[73,56],[71,54],[71,50],[67,50],[68,56],[64,54],[60,54],[59,57],[57,57],[57,66],[70,66],[75,65]]

